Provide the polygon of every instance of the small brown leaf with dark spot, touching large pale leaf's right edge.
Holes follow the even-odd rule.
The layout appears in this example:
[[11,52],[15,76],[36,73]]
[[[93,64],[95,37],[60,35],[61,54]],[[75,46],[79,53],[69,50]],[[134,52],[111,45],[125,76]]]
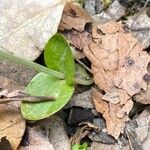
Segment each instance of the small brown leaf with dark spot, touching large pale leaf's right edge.
[[84,31],[85,24],[91,21],[92,19],[85,10],[73,3],[67,3],[59,24],[59,30],[76,29],[77,31],[82,32]]

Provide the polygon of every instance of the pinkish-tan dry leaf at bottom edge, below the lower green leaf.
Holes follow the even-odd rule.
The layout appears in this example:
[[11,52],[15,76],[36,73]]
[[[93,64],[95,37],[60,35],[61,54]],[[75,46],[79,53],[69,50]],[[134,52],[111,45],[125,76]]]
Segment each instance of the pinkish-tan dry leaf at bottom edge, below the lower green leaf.
[[53,145],[49,142],[46,131],[41,127],[28,127],[29,145],[20,146],[19,150],[54,150]]

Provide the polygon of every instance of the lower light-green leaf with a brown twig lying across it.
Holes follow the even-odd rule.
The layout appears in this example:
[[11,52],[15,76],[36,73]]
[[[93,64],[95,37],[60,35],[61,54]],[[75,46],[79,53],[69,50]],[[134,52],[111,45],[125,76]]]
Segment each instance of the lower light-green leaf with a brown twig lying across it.
[[71,98],[74,87],[45,73],[36,75],[26,87],[26,92],[36,96],[53,96],[54,101],[26,103],[21,105],[21,112],[28,120],[40,120],[59,111]]

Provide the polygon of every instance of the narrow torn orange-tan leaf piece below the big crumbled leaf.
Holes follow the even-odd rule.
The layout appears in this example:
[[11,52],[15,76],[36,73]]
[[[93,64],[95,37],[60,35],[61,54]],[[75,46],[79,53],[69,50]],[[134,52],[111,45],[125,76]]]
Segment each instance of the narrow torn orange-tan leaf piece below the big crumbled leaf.
[[127,115],[122,118],[116,116],[116,111],[120,108],[102,99],[102,94],[95,89],[92,91],[92,98],[96,111],[101,113],[106,120],[107,133],[115,137],[119,137],[120,133],[124,131],[125,122],[128,120]]

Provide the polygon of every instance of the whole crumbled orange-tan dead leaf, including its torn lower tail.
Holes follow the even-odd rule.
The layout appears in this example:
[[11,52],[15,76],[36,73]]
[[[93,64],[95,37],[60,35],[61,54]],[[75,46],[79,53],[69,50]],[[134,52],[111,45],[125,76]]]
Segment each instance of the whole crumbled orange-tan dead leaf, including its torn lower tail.
[[150,56],[120,22],[95,24],[92,36],[83,51],[92,63],[96,85],[106,93],[93,90],[93,101],[106,119],[108,134],[118,138],[133,106],[131,97],[147,89],[144,77],[149,75]]

